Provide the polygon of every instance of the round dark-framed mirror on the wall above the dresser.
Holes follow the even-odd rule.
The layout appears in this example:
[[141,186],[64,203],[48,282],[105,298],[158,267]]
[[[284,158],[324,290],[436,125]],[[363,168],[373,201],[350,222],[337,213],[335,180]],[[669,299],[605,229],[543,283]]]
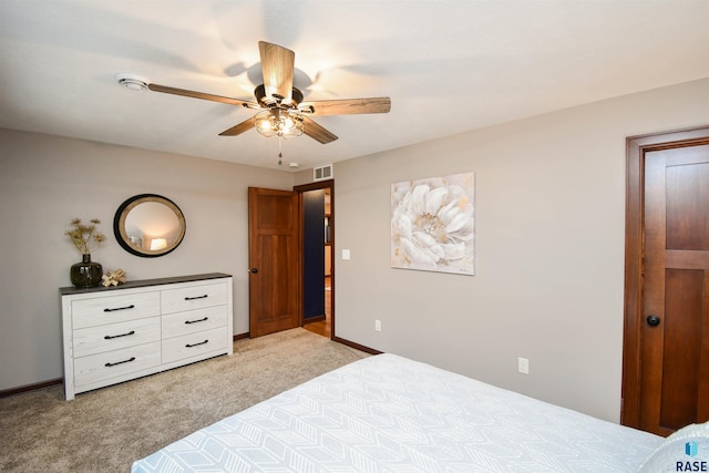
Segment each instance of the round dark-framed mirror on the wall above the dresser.
[[153,258],[167,255],[185,236],[185,216],[174,202],[156,194],[125,200],[113,218],[119,244],[133,255]]

